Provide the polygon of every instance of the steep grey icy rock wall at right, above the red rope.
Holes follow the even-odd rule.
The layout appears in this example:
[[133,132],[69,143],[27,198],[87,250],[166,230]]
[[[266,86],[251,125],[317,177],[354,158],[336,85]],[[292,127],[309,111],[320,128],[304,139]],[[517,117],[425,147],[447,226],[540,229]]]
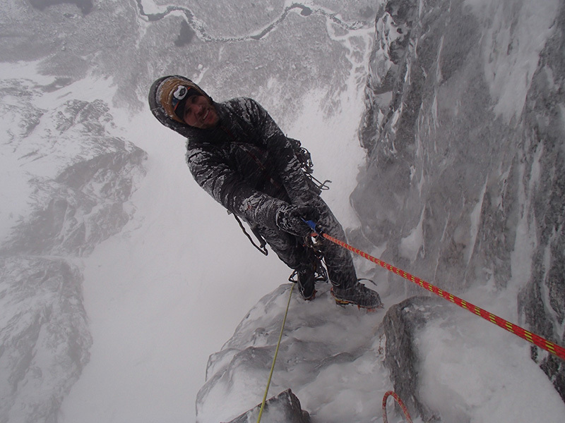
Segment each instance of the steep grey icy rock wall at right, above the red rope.
[[[506,288],[525,324],[561,345],[564,37],[559,1],[387,1],[351,195],[359,243],[454,293]],[[532,357],[565,400],[564,363]]]

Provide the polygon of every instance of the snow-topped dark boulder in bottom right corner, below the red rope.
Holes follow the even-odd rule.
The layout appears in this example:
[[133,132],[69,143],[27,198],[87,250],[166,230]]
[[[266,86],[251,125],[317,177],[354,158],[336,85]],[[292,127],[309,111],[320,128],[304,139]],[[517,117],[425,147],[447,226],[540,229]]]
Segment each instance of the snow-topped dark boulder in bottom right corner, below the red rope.
[[[563,421],[565,405],[529,359],[528,343],[441,298],[386,312],[394,391],[423,422]],[[392,408],[392,407],[391,407]]]

